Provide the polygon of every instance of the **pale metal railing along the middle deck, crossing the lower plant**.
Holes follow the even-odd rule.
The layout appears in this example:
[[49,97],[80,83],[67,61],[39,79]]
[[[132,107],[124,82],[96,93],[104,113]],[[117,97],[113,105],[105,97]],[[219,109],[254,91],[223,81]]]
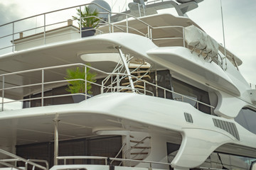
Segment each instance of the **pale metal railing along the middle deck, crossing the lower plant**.
[[[103,84],[102,82],[97,83],[97,82],[92,82],[92,81],[87,81],[86,77],[85,79],[72,79],[72,80],[66,80],[63,77],[65,76],[65,73],[58,73],[59,77],[55,78],[55,79],[51,79],[50,81],[46,81],[46,79],[48,79],[48,77],[50,77],[50,74],[54,73],[55,69],[67,69],[70,67],[82,67],[85,68],[85,75],[86,75],[86,70],[87,68],[90,69],[90,72],[97,72],[97,74],[99,74],[102,77],[111,77],[110,78],[110,86],[108,84]],[[31,73],[35,73],[35,72],[40,72],[41,74],[41,82],[38,83],[32,83],[32,84],[21,84],[21,85],[11,85],[11,86],[6,86],[6,81],[5,79],[8,79],[11,76],[21,76],[21,74],[31,74]],[[46,74],[46,72],[48,72],[48,74]],[[50,73],[50,74],[49,74]],[[128,86],[121,86],[120,84],[120,79],[113,79],[113,77],[132,77],[133,79],[135,79],[134,82],[136,81],[142,81],[143,82],[143,89],[139,89],[139,88],[135,88],[132,89],[130,84]],[[108,73],[108,72],[104,72],[100,69],[96,69],[94,67],[90,67],[86,64],[65,64],[65,65],[60,65],[60,66],[55,66],[55,67],[44,67],[44,68],[38,68],[38,69],[30,69],[30,70],[25,70],[25,71],[21,71],[21,72],[13,72],[13,73],[7,73],[7,74],[1,74],[0,75],[0,79],[2,80],[2,88],[0,89],[0,94],[2,97],[2,101],[0,102],[0,106],[1,106],[1,111],[4,111],[4,104],[6,103],[14,103],[16,101],[34,101],[34,100],[41,100],[41,106],[44,106],[44,99],[47,98],[60,98],[60,97],[64,97],[64,96],[73,96],[73,95],[83,95],[85,96],[85,100],[87,100],[88,97],[91,97],[90,94],[87,94],[87,90],[85,89],[85,94],[58,94],[58,95],[50,95],[50,96],[44,96],[45,91],[48,90],[49,87],[53,87],[53,85],[58,84],[58,86],[60,86],[60,84],[62,85],[67,85],[68,81],[85,81],[85,88],[87,84],[93,84],[95,86],[100,87],[100,94],[106,93],[106,92],[122,92],[124,90],[130,90],[130,91],[134,91],[137,94],[144,94],[144,95],[150,95],[150,96],[154,96],[154,91],[149,91],[146,89],[147,86],[153,86],[154,89],[162,89],[164,91],[164,98],[166,98],[166,94],[167,93],[171,93],[171,94],[176,94],[179,98],[181,98],[181,101],[184,101],[184,99],[188,100],[188,101],[193,101],[196,103],[196,108],[199,109],[199,104],[203,105],[203,106],[207,106],[208,108],[210,108],[210,113],[213,113],[213,106],[210,106],[206,103],[203,103],[201,101],[197,101],[193,98],[190,98],[188,96],[182,95],[182,94],[178,94],[175,91],[171,91],[170,89],[166,89],[164,87],[161,87],[157,84],[153,84],[150,83],[149,81],[145,81],[143,79],[139,79],[138,77],[135,77],[134,75],[131,74],[124,74],[124,73],[120,73],[120,72],[114,72],[114,73]],[[36,88],[35,88],[36,87]],[[35,89],[34,93],[37,94],[41,94],[41,96],[38,96],[36,98],[20,98],[18,100],[15,101],[4,101],[4,98],[6,97],[5,93],[6,91],[14,91],[14,90],[21,90],[21,91],[25,91],[26,89]],[[175,100],[175,98],[174,98]]]

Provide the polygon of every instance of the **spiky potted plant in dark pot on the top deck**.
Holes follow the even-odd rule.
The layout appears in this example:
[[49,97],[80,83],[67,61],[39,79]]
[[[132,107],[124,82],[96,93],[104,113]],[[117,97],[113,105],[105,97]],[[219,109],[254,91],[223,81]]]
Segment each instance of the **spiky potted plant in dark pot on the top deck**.
[[[77,10],[77,16],[72,16],[74,20],[78,21],[79,28],[82,29],[82,37],[95,35],[95,28],[98,27],[100,19],[98,18],[99,12],[97,9],[85,6],[84,9]],[[81,21],[80,21],[81,18]]]

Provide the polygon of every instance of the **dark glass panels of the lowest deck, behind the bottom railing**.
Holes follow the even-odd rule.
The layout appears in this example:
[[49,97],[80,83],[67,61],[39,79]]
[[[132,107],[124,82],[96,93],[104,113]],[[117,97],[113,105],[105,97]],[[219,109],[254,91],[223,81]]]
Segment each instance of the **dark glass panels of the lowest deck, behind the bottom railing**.
[[[122,147],[122,137],[100,137],[96,139],[83,138],[59,142],[59,156],[95,156],[115,157]],[[43,159],[53,166],[54,142],[44,142],[30,145],[17,145],[16,154],[25,159]],[[122,158],[122,153],[117,158]],[[120,162],[113,162],[119,165]],[[63,160],[59,161],[63,164]],[[97,159],[68,159],[66,164],[105,164],[104,160]],[[45,164],[41,164],[45,166]],[[25,166],[19,162],[18,166]]]

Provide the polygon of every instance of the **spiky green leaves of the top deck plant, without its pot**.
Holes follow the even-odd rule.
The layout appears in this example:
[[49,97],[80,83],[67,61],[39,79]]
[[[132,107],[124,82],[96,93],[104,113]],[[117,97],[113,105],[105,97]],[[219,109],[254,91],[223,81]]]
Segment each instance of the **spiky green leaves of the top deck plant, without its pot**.
[[[77,10],[77,16],[72,16],[74,20],[78,21],[78,25],[80,27],[80,24],[82,23],[82,28],[97,28],[98,24],[100,23],[100,19],[97,18],[99,16],[99,12],[95,8],[87,7],[85,6],[84,9],[80,10],[79,8]],[[96,17],[95,17],[96,16]],[[80,23],[80,17],[82,18],[82,21]]]

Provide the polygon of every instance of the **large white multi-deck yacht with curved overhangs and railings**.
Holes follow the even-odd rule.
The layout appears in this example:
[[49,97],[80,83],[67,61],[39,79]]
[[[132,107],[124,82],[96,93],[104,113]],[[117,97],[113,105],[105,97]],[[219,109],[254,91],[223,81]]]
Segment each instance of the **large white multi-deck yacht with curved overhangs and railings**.
[[[186,16],[201,1],[95,0],[0,26],[0,169],[256,169],[256,90]],[[97,28],[74,21],[85,6]]]

